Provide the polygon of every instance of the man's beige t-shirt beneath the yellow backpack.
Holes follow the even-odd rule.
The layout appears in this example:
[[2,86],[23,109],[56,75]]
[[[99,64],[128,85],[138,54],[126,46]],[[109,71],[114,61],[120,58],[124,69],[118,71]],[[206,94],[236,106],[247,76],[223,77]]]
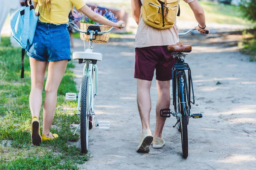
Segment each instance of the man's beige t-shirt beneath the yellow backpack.
[[[143,4],[144,0],[140,0]],[[194,0],[184,0],[186,3],[191,3]],[[185,12],[185,11],[184,11]],[[146,24],[140,12],[139,27],[135,39],[135,48],[143,48],[150,46],[163,46],[176,44],[179,41],[177,25],[172,28],[157,29]]]

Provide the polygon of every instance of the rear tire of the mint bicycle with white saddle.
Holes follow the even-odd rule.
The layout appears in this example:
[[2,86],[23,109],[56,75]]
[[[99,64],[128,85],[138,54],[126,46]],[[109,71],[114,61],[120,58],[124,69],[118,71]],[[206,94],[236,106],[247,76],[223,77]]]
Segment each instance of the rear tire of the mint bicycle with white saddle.
[[81,82],[81,100],[80,100],[80,133],[81,133],[81,151],[87,153],[89,139],[89,107],[87,106],[88,76],[84,76]]

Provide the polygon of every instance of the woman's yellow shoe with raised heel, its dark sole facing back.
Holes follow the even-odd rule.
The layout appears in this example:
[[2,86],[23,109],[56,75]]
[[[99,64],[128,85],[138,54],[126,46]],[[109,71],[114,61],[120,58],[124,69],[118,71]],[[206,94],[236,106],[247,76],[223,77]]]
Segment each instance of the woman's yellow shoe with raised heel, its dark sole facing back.
[[39,146],[42,142],[42,138],[40,135],[40,123],[35,116],[33,117],[31,122],[31,142],[36,146]]

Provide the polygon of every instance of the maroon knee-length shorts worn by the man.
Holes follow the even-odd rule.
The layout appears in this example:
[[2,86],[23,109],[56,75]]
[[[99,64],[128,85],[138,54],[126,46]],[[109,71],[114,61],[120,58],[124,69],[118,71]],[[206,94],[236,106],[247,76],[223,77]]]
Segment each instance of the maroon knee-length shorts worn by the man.
[[152,81],[156,69],[156,79],[168,81],[172,79],[172,67],[176,63],[165,46],[135,48],[134,78]]

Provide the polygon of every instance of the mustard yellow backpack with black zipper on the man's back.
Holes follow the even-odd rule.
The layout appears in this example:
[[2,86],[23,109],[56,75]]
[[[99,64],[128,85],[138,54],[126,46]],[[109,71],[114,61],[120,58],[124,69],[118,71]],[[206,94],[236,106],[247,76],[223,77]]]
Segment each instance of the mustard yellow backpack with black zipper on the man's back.
[[171,28],[175,23],[176,15],[180,16],[179,0],[144,0],[143,20],[154,28]]

